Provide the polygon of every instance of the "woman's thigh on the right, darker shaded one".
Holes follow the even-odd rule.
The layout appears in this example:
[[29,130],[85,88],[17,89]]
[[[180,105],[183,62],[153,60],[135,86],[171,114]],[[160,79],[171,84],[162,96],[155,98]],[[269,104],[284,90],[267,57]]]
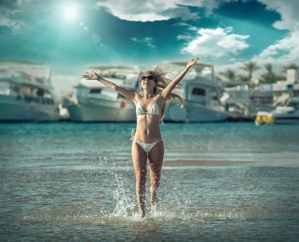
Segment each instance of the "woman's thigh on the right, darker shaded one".
[[160,140],[149,151],[150,171],[152,171],[155,174],[159,174],[162,169],[163,158],[164,158],[164,143],[162,140]]

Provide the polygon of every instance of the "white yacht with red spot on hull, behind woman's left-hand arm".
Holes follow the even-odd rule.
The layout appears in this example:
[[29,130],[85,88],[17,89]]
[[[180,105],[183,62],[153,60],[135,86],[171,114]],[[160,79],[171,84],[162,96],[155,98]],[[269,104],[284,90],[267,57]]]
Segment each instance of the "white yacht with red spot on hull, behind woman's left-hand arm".
[[[126,67],[99,67],[101,77],[131,91],[137,91],[141,70]],[[116,91],[97,80],[81,79],[74,95],[63,101],[72,121],[81,122],[133,122],[136,107]]]

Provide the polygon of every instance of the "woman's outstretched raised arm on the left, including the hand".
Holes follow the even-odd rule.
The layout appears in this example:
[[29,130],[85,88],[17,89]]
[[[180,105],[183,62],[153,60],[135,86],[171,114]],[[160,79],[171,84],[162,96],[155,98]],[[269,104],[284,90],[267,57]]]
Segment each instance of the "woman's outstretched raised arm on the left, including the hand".
[[105,86],[107,86],[107,87],[117,91],[121,95],[125,96],[127,99],[130,99],[133,102],[135,101],[135,98],[136,98],[136,95],[137,95],[136,92],[132,92],[132,91],[126,89],[126,88],[119,87],[115,83],[110,82],[110,81],[100,77],[94,71],[91,71],[91,73],[89,73],[89,72],[85,72],[85,73],[86,73],[86,75],[83,75],[83,77],[86,78],[86,80],[98,80],[99,82],[103,83]]

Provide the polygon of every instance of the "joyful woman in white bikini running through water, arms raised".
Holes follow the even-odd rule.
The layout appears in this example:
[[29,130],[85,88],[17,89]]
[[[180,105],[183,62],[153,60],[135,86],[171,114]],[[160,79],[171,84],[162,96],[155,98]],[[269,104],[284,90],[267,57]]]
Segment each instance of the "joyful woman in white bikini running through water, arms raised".
[[164,157],[163,135],[160,133],[159,122],[165,113],[166,104],[173,100],[183,105],[183,99],[172,92],[179,88],[182,80],[191,66],[199,58],[188,62],[186,68],[173,81],[167,78],[167,72],[156,67],[153,71],[146,71],[140,78],[142,93],[132,92],[101,78],[92,71],[86,72],[87,80],[98,80],[107,87],[117,91],[136,105],[137,127],[132,130],[132,159],[136,175],[136,194],[139,204],[140,217],[145,217],[145,198],[147,180],[147,159],[150,166],[150,205],[158,202],[157,189],[160,184],[161,168]]

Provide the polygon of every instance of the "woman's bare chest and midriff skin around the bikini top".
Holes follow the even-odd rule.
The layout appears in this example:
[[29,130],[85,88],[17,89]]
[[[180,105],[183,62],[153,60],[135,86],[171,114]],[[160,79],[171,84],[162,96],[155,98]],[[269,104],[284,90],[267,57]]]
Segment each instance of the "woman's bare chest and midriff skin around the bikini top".
[[[164,101],[160,95],[156,95],[155,98],[150,98],[149,100],[142,99],[142,95],[138,95],[139,99],[136,100],[135,105],[137,106],[142,100],[141,105],[145,112],[149,113],[154,102],[157,103],[159,107],[159,115],[152,114],[142,114],[137,115],[137,127],[135,138],[144,143],[153,143],[161,138],[160,132],[160,116],[161,110],[164,105]],[[155,101],[154,101],[155,100]]]

